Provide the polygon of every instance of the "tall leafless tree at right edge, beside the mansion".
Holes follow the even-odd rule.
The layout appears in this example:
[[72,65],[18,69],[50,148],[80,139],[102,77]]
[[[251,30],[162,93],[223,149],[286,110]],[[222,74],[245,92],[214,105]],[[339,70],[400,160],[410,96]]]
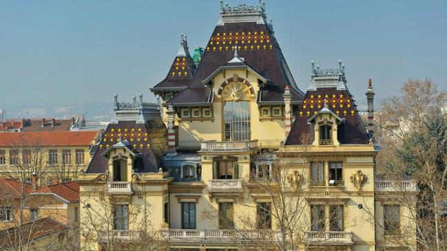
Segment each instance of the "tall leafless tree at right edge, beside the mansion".
[[[395,181],[396,199],[408,208],[406,217],[417,229],[416,240],[402,231],[396,241],[417,241],[417,250],[446,250],[447,220],[441,207],[447,198],[447,118],[441,108],[447,94],[428,79],[410,79],[401,91],[382,105],[377,175]],[[419,193],[408,189],[409,178],[417,182]]]

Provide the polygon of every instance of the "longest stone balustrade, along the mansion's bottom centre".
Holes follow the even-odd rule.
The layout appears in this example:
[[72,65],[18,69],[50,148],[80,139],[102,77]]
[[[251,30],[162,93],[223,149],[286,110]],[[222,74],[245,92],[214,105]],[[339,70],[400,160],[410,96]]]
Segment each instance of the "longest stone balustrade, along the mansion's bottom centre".
[[234,241],[279,242],[281,232],[273,230],[163,230],[163,237],[172,243],[233,243]]

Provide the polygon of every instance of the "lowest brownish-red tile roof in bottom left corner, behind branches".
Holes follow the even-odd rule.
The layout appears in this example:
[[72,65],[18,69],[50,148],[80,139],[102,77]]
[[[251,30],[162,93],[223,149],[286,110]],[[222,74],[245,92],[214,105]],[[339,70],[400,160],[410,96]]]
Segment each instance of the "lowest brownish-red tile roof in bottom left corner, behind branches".
[[[30,223],[22,225],[21,239],[22,243],[35,241],[42,237],[48,237],[51,234],[68,230],[68,227],[63,223],[56,221],[50,217],[37,219]],[[0,231],[0,250],[7,250],[12,247],[11,243],[18,245],[19,231],[16,228],[9,228]]]

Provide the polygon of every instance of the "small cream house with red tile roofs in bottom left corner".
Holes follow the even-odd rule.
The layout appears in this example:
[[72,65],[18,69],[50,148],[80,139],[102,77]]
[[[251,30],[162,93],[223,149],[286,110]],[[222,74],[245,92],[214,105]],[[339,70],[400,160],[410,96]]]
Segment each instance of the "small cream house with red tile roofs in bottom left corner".
[[[37,186],[36,181],[34,178],[31,184],[26,184],[0,178],[0,230],[3,233],[6,233],[5,230],[15,232],[12,236],[2,236],[0,232],[0,239],[5,241],[0,241],[0,247],[1,243],[19,239],[19,232],[23,230],[31,231],[33,235],[28,237],[22,234],[20,239],[32,242],[36,249],[42,248],[41,245],[53,245],[54,239],[46,237],[56,232],[60,234],[61,231],[63,236],[56,236],[59,241],[70,243],[72,248],[78,247],[79,185],[66,182]],[[47,233],[41,234],[41,231]],[[45,236],[45,239],[35,238],[34,234],[39,238]]]

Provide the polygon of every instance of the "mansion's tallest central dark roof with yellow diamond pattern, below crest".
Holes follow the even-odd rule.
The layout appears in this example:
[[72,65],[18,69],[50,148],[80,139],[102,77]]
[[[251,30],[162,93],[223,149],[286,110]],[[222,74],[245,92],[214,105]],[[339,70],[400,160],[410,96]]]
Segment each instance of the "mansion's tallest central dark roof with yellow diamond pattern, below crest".
[[176,106],[209,102],[211,89],[205,87],[202,80],[231,61],[234,45],[238,46],[238,55],[245,58],[247,65],[269,79],[268,85],[260,91],[258,102],[284,102],[282,94],[287,85],[291,87],[292,102],[300,102],[304,95],[296,87],[273,32],[265,23],[267,21],[264,24],[234,22],[216,25],[191,83],[169,103]]

